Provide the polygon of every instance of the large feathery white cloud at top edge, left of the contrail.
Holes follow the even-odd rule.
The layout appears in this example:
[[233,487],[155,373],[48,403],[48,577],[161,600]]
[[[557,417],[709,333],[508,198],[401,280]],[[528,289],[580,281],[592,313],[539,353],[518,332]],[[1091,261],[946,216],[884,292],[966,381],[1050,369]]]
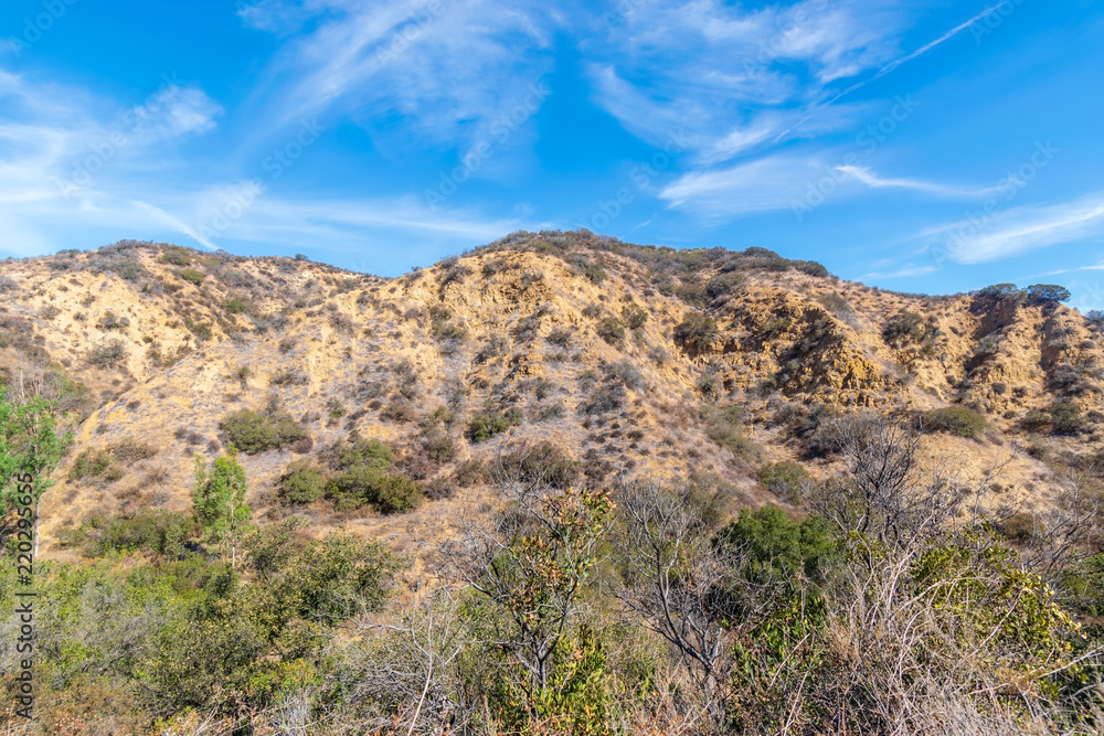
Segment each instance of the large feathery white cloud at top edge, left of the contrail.
[[[491,120],[521,104],[529,85],[551,70],[559,23],[537,2],[315,0],[296,7],[314,13],[317,28],[289,41],[269,70],[262,94],[277,125],[350,116],[386,147],[486,135]],[[402,126],[388,122],[396,117]]]

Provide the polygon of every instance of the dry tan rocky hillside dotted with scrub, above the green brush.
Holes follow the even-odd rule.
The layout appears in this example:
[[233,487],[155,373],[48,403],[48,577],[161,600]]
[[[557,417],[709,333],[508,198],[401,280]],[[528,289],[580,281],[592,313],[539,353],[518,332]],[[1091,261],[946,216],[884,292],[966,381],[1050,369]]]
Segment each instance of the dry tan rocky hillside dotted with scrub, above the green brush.
[[[856,409],[923,426],[930,463],[1005,463],[1028,511],[1104,458],[1101,320],[1055,289],[902,295],[763,249],[553,232],[395,279],[123,242],[0,263],[0,380],[76,423],[41,510],[55,557],[97,519],[188,508],[194,456],[231,441],[255,518],[412,552],[503,469],[786,504]],[[386,498],[354,482],[365,457]]]

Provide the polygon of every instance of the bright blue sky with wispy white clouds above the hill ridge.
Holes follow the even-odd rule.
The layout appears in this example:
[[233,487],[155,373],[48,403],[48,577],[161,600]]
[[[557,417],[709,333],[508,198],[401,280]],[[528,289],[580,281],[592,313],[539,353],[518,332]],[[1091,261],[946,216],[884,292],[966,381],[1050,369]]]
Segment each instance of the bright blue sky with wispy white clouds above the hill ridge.
[[1104,308],[1104,7],[7,0],[0,255],[397,275],[513,230]]

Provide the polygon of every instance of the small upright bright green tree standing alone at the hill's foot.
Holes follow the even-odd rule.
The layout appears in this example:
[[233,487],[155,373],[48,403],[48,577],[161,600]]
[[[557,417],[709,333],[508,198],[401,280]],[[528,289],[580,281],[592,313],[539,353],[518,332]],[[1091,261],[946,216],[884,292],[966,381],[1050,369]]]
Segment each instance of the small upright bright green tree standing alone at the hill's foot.
[[232,565],[236,563],[237,544],[252,515],[245,503],[247,488],[245,468],[238,465],[237,449],[233,445],[225,455],[215,458],[210,473],[203,456],[195,456],[195,489],[192,492],[195,518],[211,542],[230,545]]

